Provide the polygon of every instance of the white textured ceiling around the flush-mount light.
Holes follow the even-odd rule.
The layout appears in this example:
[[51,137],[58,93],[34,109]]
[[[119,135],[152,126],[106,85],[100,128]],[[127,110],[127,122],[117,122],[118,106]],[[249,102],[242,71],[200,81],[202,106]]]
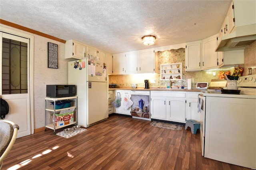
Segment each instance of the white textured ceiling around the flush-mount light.
[[[202,40],[218,33],[232,1],[0,0],[0,18],[109,53]],[[156,36],[154,45],[142,36]]]

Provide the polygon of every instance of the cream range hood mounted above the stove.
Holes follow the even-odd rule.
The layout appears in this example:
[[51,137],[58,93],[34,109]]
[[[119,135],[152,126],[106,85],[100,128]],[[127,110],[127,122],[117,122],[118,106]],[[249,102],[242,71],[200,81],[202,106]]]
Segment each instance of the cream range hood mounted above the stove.
[[215,51],[245,49],[256,40],[256,24],[236,27],[234,32],[223,36]]

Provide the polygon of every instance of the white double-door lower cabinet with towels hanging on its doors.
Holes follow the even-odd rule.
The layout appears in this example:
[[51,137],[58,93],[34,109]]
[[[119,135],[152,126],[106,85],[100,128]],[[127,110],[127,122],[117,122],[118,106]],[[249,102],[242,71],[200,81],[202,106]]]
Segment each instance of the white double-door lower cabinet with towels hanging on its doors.
[[131,107],[127,110],[124,109],[124,97],[127,96],[131,99],[131,91],[130,90],[116,90],[115,91],[115,99],[116,96],[120,93],[121,95],[121,106],[115,108],[115,113],[123,114],[123,115],[131,115]]

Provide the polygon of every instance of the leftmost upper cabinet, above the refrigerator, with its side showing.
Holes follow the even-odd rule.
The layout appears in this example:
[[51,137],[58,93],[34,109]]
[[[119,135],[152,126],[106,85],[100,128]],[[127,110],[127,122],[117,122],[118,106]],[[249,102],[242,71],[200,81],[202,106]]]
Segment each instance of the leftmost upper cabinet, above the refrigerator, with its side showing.
[[86,56],[86,45],[75,40],[68,40],[65,44],[66,59],[83,59]]

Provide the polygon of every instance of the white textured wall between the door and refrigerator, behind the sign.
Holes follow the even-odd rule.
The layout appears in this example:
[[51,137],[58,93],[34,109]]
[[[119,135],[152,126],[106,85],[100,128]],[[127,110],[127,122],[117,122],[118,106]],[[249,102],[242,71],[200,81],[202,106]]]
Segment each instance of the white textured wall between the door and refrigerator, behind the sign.
[[[68,60],[65,59],[65,44],[3,24],[0,26],[34,36],[34,128],[44,127],[46,85],[68,84]],[[58,44],[58,69],[47,67],[48,42]]]

